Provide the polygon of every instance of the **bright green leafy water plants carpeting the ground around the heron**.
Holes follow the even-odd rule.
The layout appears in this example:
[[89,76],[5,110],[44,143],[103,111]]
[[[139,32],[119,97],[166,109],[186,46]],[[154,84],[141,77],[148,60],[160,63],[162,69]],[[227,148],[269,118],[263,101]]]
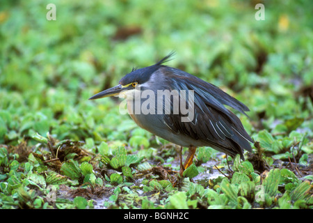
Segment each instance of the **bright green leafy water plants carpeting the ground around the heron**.
[[[56,5],[55,21],[46,18],[49,3]],[[265,20],[255,20],[257,3],[265,6]],[[104,206],[113,208],[312,208],[312,27],[310,0],[1,1],[0,207],[92,208],[95,198],[45,199],[47,185],[89,183],[108,190]],[[137,174],[157,162],[177,170],[179,153],[120,114],[116,100],[88,98],[172,50],[168,66],[248,105],[250,118],[239,116],[273,169],[268,178],[279,176],[283,190],[265,183],[265,200],[247,199],[252,183],[263,184],[262,172],[246,163],[248,171],[234,168],[241,174],[236,183],[220,177],[177,189],[153,174],[144,187],[136,183]],[[84,142],[79,152],[65,153],[61,167],[44,162],[56,158],[59,146],[74,148],[77,141]],[[198,151],[198,172],[211,158],[225,165],[210,148]],[[242,185],[242,179],[250,183]],[[161,191],[163,199],[136,190]]]

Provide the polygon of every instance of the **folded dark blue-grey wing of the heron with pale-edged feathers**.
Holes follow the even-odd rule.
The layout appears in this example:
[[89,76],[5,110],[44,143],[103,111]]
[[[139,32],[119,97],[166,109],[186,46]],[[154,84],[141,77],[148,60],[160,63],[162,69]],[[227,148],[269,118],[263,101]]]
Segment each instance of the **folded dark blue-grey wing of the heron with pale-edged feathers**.
[[[188,73],[180,72],[179,75],[174,73],[173,77],[171,72],[167,77],[175,78],[172,89],[193,90],[193,120],[183,122],[182,117],[187,115],[182,112],[165,115],[164,121],[168,128],[193,139],[205,141],[232,156],[239,153],[243,157],[243,148],[251,151],[249,143],[252,142],[251,137],[243,128],[240,119],[224,105],[229,105],[243,114],[244,111],[248,111],[248,107],[213,84],[186,74]],[[188,99],[187,95],[186,98]]]

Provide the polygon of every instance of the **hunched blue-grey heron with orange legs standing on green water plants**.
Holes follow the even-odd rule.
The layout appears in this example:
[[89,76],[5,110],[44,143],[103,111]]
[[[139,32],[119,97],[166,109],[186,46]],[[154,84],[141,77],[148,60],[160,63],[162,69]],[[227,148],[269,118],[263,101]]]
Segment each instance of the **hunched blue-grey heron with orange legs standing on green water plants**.
[[239,118],[224,105],[246,115],[246,105],[217,86],[188,72],[164,66],[172,53],[153,66],[131,70],[117,86],[89,98],[127,98],[127,111],[141,128],[173,144],[188,147],[180,171],[193,163],[198,146],[210,146],[234,157],[251,151],[252,139]]

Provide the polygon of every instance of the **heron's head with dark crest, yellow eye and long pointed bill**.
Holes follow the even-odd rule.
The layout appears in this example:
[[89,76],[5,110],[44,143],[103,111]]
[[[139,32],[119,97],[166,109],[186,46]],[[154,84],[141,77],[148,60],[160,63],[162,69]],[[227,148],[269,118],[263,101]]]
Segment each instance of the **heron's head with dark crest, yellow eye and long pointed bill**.
[[[170,60],[170,57],[172,56],[173,52],[168,54],[168,56],[164,57],[159,61],[158,63],[141,69],[134,69],[131,70],[127,75],[122,77],[120,79],[120,82],[117,86],[113,86],[111,89],[106,89],[104,91],[101,91],[93,97],[89,98],[89,100],[95,100],[98,98],[106,98],[110,96],[121,96],[121,95],[131,95],[136,91],[137,89],[145,90],[149,89],[149,85],[146,83],[149,82],[152,74],[158,70],[162,65],[162,63],[165,63]],[[157,84],[157,83],[155,83]]]

